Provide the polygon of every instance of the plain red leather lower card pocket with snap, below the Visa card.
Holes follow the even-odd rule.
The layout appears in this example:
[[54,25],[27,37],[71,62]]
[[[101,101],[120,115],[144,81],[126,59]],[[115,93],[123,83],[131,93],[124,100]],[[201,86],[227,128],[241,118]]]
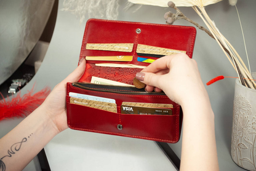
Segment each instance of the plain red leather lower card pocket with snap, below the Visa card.
[[[71,129],[169,143],[175,143],[179,138],[179,119],[175,115],[120,114],[69,102],[66,106]],[[118,124],[122,125],[122,130],[118,129]]]

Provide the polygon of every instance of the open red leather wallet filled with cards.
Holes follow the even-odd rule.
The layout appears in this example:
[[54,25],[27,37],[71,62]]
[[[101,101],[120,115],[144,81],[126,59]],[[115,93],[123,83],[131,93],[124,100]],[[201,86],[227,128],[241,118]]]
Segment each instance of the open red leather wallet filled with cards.
[[[182,109],[164,92],[133,85],[136,73],[166,55],[193,55],[191,26],[90,19],[82,39],[86,71],[66,85],[68,126],[74,130],[177,143]],[[172,85],[170,85],[172,86]]]

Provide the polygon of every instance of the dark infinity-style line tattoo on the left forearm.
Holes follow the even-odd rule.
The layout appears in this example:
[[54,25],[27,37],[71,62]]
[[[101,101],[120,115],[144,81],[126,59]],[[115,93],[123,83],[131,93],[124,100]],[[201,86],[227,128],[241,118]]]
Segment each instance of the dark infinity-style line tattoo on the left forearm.
[[[30,136],[28,136],[28,138],[30,138],[31,135],[33,135],[33,133],[31,133]],[[22,139],[22,141],[12,145],[10,147],[10,149],[8,149],[8,151],[7,151],[8,154],[6,156],[4,156],[4,157],[12,157],[12,155],[14,155],[15,152],[20,150],[20,148],[22,147],[22,143],[25,143],[28,140],[28,138],[25,137],[25,138]],[[4,157],[0,158],[0,171],[6,171],[6,165],[2,161],[2,159],[4,159]]]

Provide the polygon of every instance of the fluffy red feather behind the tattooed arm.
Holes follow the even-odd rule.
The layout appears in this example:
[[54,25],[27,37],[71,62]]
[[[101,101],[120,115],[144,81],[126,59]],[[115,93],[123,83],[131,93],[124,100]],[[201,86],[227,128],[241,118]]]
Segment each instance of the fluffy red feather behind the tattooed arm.
[[0,121],[7,118],[28,116],[44,102],[50,93],[50,87],[45,87],[32,95],[33,92],[34,85],[23,97],[20,97],[20,92],[17,93],[16,97],[12,95],[12,100],[9,97],[7,97],[7,100],[2,97],[3,99],[0,101]]

